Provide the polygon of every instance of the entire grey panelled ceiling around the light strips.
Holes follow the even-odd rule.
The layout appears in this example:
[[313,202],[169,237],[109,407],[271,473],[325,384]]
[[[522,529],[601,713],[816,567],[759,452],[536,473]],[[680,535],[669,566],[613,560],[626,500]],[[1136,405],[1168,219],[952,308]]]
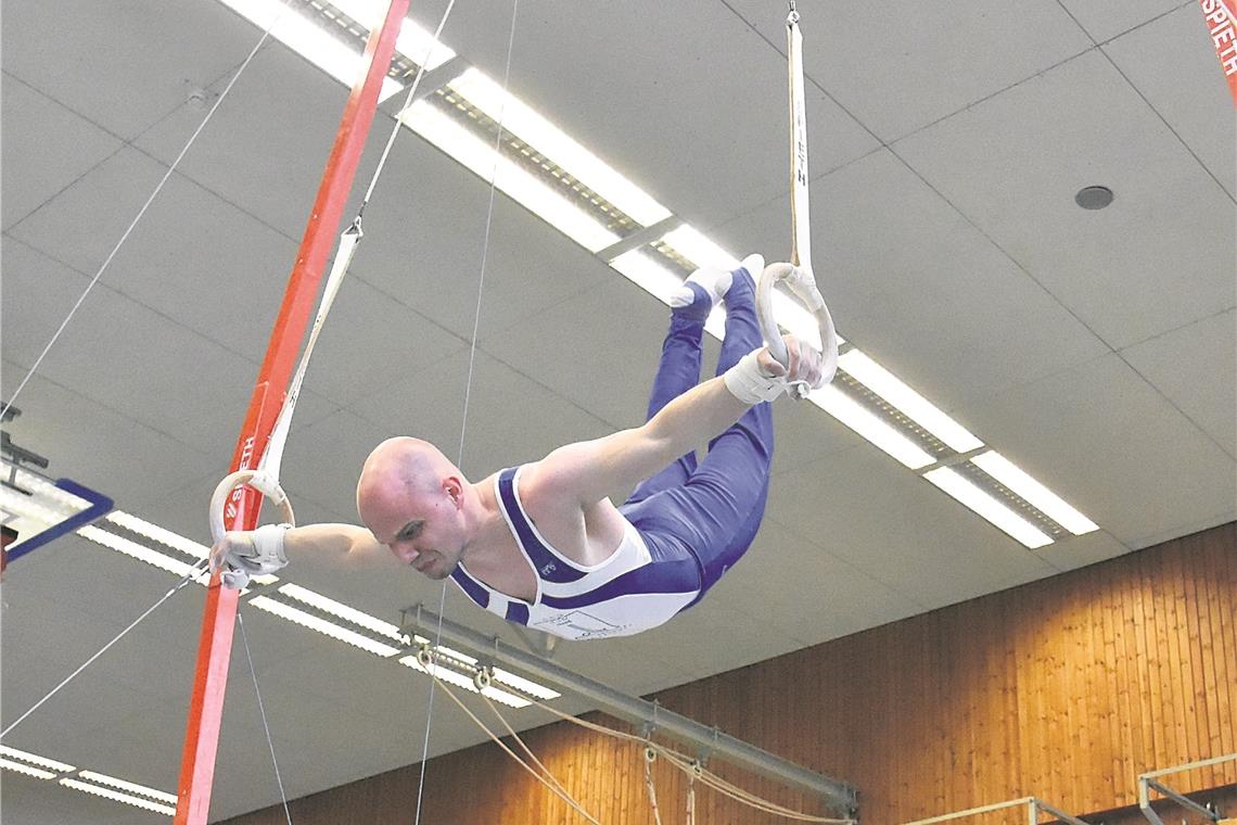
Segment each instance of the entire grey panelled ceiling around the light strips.
[[[631,694],[1237,516],[1235,120],[1197,4],[799,5],[814,262],[839,330],[1101,532],[1027,550],[821,411],[781,402],[747,560],[666,627],[559,653]],[[433,30],[442,6],[413,16]],[[221,89],[260,32],[215,0],[9,0],[4,14],[7,397],[200,122],[189,89]],[[730,251],[784,257],[783,19],[772,0],[523,0],[511,88]],[[510,6],[463,0],[443,40],[501,78],[508,26]],[[22,391],[16,442],[205,539],[345,95],[285,47],[261,49]],[[1089,184],[1113,205],[1080,210]],[[353,518],[356,469],[383,437],[455,451],[486,202],[479,179],[401,136],[288,444],[302,521]],[[637,423],[664,318],[500,197],[465,471]],[[393,560],[298,560],[289,578],[392,621],[439,597]],[[16,562],[5,724],[171,584],[78,538]],[[200,589],[178,594],[5,743],[174,790],[200,611]],[[456,592],[447,615],[510,636]],[[419,758],[424,679],[246,616],[289,795]],[[213,819],[278,800],[240,647],[231,683]],[[432,752],[482,738],[438,705]],[[163,819],[4,782],[14,821]]]

